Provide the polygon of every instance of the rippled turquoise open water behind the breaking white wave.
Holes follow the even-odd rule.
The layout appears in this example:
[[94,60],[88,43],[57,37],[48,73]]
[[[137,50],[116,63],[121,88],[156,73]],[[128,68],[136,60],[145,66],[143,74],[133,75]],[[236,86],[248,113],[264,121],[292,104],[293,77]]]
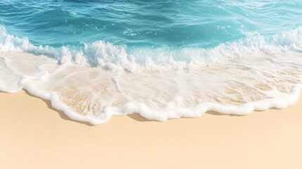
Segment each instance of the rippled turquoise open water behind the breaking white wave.
[[0,1],[8,34],[34,45],[96,41],[127,46],[209,48],[248,32],[272,35],[302,25],[302,1]]

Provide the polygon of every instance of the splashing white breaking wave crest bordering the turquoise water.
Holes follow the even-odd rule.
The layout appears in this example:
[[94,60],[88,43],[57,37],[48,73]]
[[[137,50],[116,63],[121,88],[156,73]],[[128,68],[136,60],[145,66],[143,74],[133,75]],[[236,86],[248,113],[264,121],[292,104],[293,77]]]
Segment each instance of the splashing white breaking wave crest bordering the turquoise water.
[[226,42],[214,48],[176,48],[169,46],[135,47],[96,41],[81,46],[34,46],[27,37],[19,38],[6,33],[0,25],[0,51],[26,51],[56,59],[61,64],[100,67],[104,70],[130,73],[153,70],[194,69],[229,58],[241,58],[242,53],[263,51],[276,54],[284,51],[302,52],[302,27],[279,34],[262,36],[257,32],[246,33],[246,38]]

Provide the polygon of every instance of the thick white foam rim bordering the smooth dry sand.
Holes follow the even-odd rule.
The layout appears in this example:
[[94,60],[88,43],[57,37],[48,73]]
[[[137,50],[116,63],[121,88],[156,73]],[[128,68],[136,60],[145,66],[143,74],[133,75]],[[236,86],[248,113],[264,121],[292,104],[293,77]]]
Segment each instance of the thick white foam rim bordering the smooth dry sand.
[[[30,83],[30,80],[23,79],[20,84],[20,88],[16,89],[15,91],[5,91],[2,90],[1,87],[0,89],[4,92],[17,92],[20,89],[25,89],[27,90],[27,92],[34,96],[51,101],[51,106],[53,108],[56,108],[56,110],[58,111],[63,111],[65,115],[68,116],[68,118],[72,120],[87,122],[92,125],[100,125],[106,123],[113,115],[130,115],[132,113],[138,113],[148,120],[157,120],[161,122],[175,118],[197,118],[207,111],[215,111],[227,115],[248,115],[253,111],[266,111],[270,108],[282,109],[294,105],[296,101],[298,101],[302,89],[302,84],[294,85],[289,94],[279,94],[279,96],[273,99],[264,99],[261,101],[250,102],[241,106],[224,106],[220,104],[205,102],[194,107],[184,108],[171,103],[161,111],[155,111],[146,106],[146,104],[144,103],[132,101],[124,104],[121,107],[106,107],[103,112],[99,114],[102,115],[102,117],[99,118],[99,116],[89,114],[81,115],[73,111],[73,109],[63,104],[60,99],[58,99],[56,92],[39,91],[38,88],[34,86],[34,84]],[[103,115],[106,115],[106,117],[104,117]]]

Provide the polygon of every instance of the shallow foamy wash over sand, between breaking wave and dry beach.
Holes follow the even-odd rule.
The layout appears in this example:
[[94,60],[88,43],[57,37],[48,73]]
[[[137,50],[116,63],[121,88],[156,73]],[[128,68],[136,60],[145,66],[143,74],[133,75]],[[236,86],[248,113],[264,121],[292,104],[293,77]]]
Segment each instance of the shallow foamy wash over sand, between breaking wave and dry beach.
[[[93,125],[106,123],[112,115],[129,113],[158,121],[194,118],[205,111],[246,115],[254,110],[285,108],[294,104],[301,91],[300,53],[291,61],[282,60],[287,53],[274,55],[274,61],[283,62],[282,66],[270,62],[270,55],[259,55],[259,61],[247,57],[240,62],[163,73],[61,65],[56,59],[24,51],[1,54],[1,91],[26,89],[51,100],[52,107],[71,119]],[[246,61],[251,63],[246,65]]]

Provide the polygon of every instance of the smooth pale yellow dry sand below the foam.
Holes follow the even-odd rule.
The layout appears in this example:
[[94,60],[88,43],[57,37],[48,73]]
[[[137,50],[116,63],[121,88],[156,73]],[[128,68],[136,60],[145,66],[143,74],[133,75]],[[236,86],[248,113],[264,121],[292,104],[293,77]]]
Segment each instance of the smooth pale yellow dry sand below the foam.
[[89,126],[49,101],[0,93],[0,168],[302,168],[302,99],[248,116]]

